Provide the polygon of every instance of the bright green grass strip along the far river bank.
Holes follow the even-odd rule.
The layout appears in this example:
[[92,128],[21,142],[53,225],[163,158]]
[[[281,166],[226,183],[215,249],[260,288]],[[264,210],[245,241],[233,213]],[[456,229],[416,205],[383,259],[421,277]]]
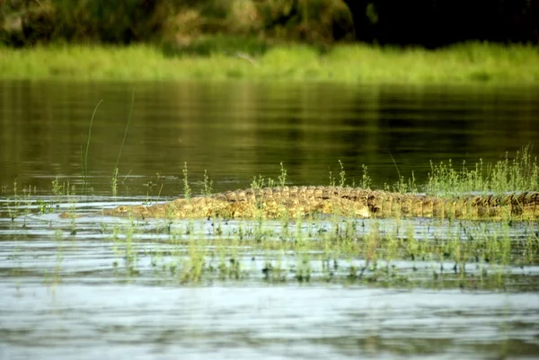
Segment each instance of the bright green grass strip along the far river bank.
[[174,55],[149,45],[0,48],[0,78],[539,84],[538,48],[528,45],[467,43],[429,51],[357,44],[327,52],[289,45],[264,51],[216,48]]

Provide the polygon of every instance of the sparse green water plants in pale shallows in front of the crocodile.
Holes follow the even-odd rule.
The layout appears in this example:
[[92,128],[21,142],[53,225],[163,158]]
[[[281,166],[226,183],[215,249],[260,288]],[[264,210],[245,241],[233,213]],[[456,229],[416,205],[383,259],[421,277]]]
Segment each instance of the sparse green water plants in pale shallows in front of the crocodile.
[[[114,237],[119,249],[116,263],[125,263],[128,276],[147,274],[147,266],[134,261],[142,256],[134,250],[141,246],[137,243],[147,243],[151,237],[144,231],[147,224],[124,225],[115,230],[126,233]],[[218,278],[469,289],[511,289],[534,282],[537,276],[528,267],[539,262],[539,239],[529,232],[517,240],[509,224],[494,228],[443,224],[427,230],[428,238],[418,235],[412,224],[372,224],[366,232],[345,231],[361,228],[358,220],[351,219],[309,227],[301,219],[273,224],[265,227],[263,238],[258,236],[258,226],[253,222],[225,224],[220,233],[207,233],[203,223],[181,222],[172,231],[166,228],[155,240],[163,244],[150,246],[155,249],[152,272],[182,284],[211,283]],[[286,227],[292,231],[283,237]],[[524,276],[521,284],[515,283],[518,273]]]

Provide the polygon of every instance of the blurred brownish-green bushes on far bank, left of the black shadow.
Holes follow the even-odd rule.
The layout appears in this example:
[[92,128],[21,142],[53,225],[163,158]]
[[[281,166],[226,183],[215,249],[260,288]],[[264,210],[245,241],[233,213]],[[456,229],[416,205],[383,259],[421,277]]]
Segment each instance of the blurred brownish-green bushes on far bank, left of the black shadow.
[[[0,1],[0,39],[10,45],[171,42],[209,54],[238,48],[231,42],[243,38],[248,43],[240,48],[252,53],[261,41],[249,39],[329,44],[352,35],[349,9],[340,0]],[[216,36],[222,36],[218,43],[205,40]]]

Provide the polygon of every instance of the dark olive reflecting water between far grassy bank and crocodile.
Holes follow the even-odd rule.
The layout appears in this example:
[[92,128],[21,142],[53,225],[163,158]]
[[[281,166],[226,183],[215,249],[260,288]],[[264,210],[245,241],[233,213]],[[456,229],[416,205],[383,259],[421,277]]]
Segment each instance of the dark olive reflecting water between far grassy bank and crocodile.
[[[133,119],[119,161],[125,193],[149,180],[181,192],[208,170],[217,190],[252,176],[325,184],[344,163],[349,179],[367,164],[375,185],[413,170],[420,182],[429,160],[495,161],[539,137],[539,89],[395,87],[309,83],[0,83],[0,184],[49,190],[57,175],[80,181],[94,106],[88,159],[93,189],[110,194],[110,177],[136,87]],[[393,164],[392,156],[398,171]],[[159,176],[158,176],[159,175]],[[128,176],[126,178],[126,176]],[[141,177],[141,178],[138,178]]]

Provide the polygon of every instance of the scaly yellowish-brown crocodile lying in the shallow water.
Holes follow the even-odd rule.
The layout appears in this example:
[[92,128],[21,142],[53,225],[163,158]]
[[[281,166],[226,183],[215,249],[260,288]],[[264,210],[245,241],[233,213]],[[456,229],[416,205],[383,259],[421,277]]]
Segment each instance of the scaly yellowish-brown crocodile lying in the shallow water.
[[280,218],[311,214],[349,217],[435,217],[456,219],[536,219],[539,192],[439,198],[383,190],[309,186],[238,189],[177,198],[152,206],[117,206],[102,215],[135,218]]

